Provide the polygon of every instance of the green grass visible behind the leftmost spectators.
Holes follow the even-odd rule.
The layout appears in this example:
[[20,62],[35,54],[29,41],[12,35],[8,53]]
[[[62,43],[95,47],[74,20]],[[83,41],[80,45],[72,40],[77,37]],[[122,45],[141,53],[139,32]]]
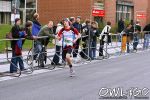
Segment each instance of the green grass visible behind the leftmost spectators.
[[[0,53],[5,52],[6,48],[6,41],[1,41],[1,39],[5,39],[6,33],[9,33],[11,30],[11,25],[0,25]],[[10,42],[8,41],[9,47]],[[23,45],[23,50],[29,50],[32,47],[32,41],[31,40],[25,40],[25,43]],[[48,48],[53,48],[54,45],[52,43],[49,43]]]

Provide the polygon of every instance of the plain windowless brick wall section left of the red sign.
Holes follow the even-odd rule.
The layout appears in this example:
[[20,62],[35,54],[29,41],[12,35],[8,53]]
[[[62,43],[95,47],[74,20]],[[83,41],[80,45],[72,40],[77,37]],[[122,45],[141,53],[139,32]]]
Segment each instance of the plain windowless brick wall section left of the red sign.
[[43,24],[49,20],[56,23],[62,18],[72,16],[86,19],[91,15],[91,0],[38,0],[37,11]]

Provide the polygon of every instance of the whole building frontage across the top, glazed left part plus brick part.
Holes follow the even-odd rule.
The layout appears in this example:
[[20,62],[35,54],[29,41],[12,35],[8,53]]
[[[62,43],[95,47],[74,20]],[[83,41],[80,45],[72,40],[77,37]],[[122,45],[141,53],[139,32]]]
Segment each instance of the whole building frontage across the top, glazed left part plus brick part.
[[111,21],[113,25],[120,18],[140,20],[144,26],[150,23],[150,0],[1,0],[0,24],[13,23],[16,17],[25,23],[32,20],[35,12],[40,14],[42,24],[81,16],[98,22]]

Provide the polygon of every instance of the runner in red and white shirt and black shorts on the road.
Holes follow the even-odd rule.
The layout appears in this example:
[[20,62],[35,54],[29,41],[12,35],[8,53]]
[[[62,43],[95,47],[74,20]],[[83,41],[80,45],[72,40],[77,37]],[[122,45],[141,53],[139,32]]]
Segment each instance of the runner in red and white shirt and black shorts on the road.
[[76,41],[80,38],[80,33],[77,31],[77,29],[72,28],[70,26],[69,20],[67,19],[63,20],[63,25],[64,28],[60,30],[57,38],[59,40],[62,39],[62,48],[63,48],[62,54],[69,65],[70,76],[72,77],[75,75],[75,72],[72,67],[72,49],[73,49],[73,44],[76,43]]

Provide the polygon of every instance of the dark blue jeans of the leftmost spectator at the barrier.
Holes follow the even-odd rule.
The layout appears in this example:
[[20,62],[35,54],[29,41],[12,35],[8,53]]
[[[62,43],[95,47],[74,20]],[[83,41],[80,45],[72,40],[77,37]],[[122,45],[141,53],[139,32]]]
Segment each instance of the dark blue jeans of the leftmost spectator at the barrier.
[[24,64],[23,64],[22,57],[21,56],[16,57],[15,51],[12,51],[12,59],[11,59],[11,64],[10,64],[10,73],[17,72],[18,63],[19,63],[20,70],[21,71],[24,70]]

